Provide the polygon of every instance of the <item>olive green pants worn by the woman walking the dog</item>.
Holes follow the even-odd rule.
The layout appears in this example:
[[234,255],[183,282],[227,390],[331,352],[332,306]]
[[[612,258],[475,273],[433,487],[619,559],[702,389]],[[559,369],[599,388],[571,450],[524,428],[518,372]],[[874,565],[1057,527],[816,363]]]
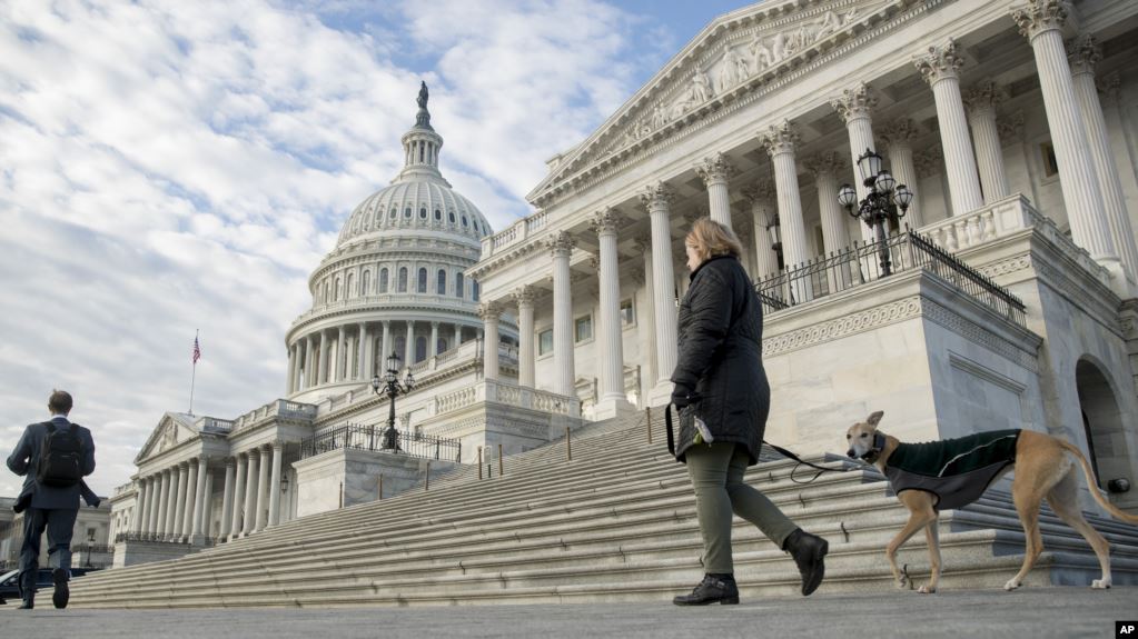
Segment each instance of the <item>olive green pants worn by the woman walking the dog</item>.
[[732,512],[757,525],[780,548],[798,529],[770,499],[743,482],[750,460],[745,447],[732,442],[696,445],[685,455],[703,534],[704,572],[735,572],[731,559]]

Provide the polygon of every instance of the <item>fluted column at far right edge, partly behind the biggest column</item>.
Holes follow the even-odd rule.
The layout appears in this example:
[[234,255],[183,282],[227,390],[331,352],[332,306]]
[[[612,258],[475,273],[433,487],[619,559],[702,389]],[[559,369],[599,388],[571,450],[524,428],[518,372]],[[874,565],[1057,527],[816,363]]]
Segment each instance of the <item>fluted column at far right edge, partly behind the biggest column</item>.
[[[1103,105],[1098,100],[1095,86],[1095,65],[1103,59],[1103,53],[1090,35],[1069,43],[1071,61],[1071,81],[1079,99],[1079,110],[1083,125],[1087,127],[1087,142],[1091,164],[1098,176],[1098,188],[1103,192],[1103,206],[1106,211],[1106,225],[1111,231],[1114,249],[1133,280],[1138,275],[1138,249],[1135,248],[1133,229],[1127,213],[1125,196],[1122,193],[1122,181],[1119,168],[1111,152],[1111,139],[1106,128]],[[1119,128],[1121,133],[1122,130]]]

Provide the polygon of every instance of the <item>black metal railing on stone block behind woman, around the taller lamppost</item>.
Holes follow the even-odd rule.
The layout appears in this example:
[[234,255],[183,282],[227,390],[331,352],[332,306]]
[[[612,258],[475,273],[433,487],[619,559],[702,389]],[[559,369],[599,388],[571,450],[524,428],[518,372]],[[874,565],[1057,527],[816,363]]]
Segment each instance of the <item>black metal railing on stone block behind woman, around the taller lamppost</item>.
[[927,271],[1004,317],[1024,324],[1020,298],[915,231],[885,239],[884,247],[882,242],[855,242],[851,247],[760,281],[754,289],[762,312],[775,313],[888,277],[884,268],[887,255],[893,274]]

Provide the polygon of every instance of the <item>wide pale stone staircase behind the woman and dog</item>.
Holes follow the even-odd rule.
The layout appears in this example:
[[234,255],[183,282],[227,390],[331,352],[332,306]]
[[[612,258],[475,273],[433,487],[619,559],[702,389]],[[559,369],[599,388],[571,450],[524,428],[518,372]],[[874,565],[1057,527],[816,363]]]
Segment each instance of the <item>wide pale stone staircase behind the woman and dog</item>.
[[[643,414],[574,432],[496,460],[478,479],[462,467],[398,497],[289,522],[175,561],[115,569],[73,582],[75,607],[407,606],[660,601],[702,576],[694,498],[667,453],[662,410],[648,443]],[[802,528],[831,542],[819,592],[893,589],[885,542],[907,518],[873,468],[843,458],[814,472],[776,456],[748,481]],[[793,472],[793,478],[791,476]],[[1089,517],[1112,543],[1115,584],[1138,584],[1138,528]],[[1026,586],[1089,586],[1089,546],[1049,511],[1045,555]],[[798,592],[789,555],[735,521],[742,596]],[[941,589],[998,588],[1022,562],[1023,533],[1006,490],[941,515]],[[900,561],[927,576],[918,534]]]

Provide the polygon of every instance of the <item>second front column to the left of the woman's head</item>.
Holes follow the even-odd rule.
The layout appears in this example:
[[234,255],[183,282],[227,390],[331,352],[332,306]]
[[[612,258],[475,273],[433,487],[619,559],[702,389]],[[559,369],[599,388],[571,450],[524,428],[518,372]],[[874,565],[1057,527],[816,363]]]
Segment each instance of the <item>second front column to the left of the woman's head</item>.
[[[600,240],[600,329],[603,339],[600,354],[601,392],[595,420],[615,417],[622,409],[632,408],[625,392],[625,340],[620,324],[620,267],[617,252],[617,231],[620,229],[620,213],[612,208],[596,213],[591,221],[592,230]],[[727,227],[731,227],[729,223]]]

